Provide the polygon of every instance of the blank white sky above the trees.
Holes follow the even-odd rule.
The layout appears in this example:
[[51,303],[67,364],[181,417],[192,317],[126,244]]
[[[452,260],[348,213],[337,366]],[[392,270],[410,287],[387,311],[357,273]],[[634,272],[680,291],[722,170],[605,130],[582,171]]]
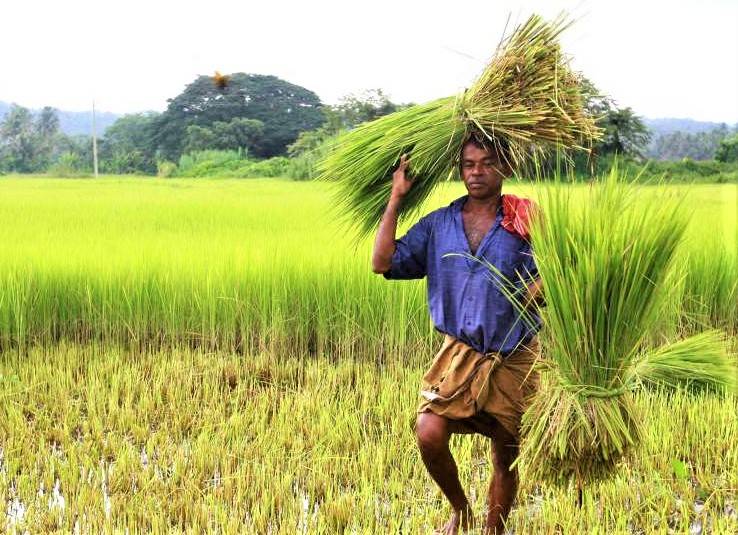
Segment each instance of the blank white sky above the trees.
[[273,74],[334,103],[463,89],[511,25],[562,9],[572,65],[647,117],[738,122],[738,0],[5,0],[0,100],[163,110],[198,74]]

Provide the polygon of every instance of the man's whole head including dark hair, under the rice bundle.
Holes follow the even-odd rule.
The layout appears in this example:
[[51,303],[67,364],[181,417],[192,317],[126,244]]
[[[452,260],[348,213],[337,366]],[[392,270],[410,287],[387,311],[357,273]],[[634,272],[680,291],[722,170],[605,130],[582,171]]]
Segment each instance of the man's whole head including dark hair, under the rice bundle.
[[512,174],[504,143],[470,136],[461,147],[459,171],[469,196],[484,200],[500,195],[502,181]]

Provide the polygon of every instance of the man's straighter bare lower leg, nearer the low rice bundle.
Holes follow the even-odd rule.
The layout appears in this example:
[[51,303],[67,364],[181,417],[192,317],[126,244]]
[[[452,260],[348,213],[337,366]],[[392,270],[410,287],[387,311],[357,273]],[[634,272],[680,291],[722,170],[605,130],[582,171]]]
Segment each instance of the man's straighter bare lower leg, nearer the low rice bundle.
[[517,469],[510,470],[510,465],[515,461],[517,455],[517,440],[498,422],[492,437],[494,473],[487,495],[485,534],[502,535],[505,531],[505,520],[518,491]]

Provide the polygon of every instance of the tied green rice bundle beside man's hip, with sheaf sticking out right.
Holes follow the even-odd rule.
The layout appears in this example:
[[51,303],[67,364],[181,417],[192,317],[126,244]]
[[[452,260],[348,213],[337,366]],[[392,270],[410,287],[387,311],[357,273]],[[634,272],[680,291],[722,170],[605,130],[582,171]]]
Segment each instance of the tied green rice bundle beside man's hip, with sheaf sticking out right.
[[644,352],[689,214],[678,198],[634,192],[614,168],[583,198],[560,186],[541,196],[531,236],[547,303],[544,380],[518,460],[534,481],[574,478],[581,488],[609,475],[641,436],[632,396],[643,384],[735,388],[714,332]]

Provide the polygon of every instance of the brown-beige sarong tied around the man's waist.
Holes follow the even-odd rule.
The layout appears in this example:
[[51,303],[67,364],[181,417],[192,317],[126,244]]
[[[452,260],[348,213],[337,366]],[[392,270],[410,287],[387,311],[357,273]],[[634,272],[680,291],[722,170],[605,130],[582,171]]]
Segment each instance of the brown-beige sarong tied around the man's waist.
[[418,412],[432,411],[486,436],[497,421],[519,438],[520,420],[538,389],[534,364],[539,355],[537,338],[503,357],[446,335],[423,377]]

